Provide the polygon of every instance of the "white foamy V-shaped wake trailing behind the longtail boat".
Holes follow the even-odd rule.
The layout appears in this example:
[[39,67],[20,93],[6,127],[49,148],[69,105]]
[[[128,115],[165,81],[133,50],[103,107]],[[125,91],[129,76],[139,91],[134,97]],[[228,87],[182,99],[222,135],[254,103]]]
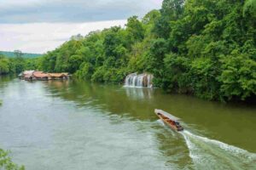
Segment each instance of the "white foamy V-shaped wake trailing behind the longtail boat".
[[256,169],[256,154],[187,130],[181,134],[196,169]]

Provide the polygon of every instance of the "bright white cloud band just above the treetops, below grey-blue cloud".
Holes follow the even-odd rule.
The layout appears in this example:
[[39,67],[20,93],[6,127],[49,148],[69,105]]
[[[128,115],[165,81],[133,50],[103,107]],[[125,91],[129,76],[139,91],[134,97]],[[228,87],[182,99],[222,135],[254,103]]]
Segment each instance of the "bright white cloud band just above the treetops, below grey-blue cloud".
[[0,51],[20,49],[27,53],[46,53],[77,34],[111,26],[125,26],[126,20],[86,23],[0,24]]

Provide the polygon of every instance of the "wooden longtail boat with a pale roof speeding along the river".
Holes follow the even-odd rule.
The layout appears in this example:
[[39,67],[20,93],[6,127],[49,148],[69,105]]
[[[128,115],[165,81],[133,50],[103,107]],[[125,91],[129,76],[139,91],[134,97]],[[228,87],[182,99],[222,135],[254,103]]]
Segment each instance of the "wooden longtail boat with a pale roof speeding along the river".
[[166,123],[169,127],[177,131],[183,131],[183,127],[179,124],[179,118],[172,116],[166,111],[154,110],[155,114],[160,117],[160,119]]

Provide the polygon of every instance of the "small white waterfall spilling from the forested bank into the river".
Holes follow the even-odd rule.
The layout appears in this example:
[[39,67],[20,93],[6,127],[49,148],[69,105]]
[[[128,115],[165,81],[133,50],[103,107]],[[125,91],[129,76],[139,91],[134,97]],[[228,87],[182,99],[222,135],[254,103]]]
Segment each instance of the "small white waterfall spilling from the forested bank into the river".
[[132,73],[125,78],[125,87],[152,88],[153,75]]

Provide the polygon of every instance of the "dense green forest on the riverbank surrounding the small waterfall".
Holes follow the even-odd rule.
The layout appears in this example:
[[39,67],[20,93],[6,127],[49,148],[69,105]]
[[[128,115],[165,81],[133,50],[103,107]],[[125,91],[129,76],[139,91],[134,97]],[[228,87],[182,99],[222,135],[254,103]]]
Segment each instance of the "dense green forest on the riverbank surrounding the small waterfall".
[[255,99],[256,0],[164,0],[124,28],[74,36],[33,61],[28,65],[38,70],[95,82],[122,83],[129,73],[148,72],[168,93]]

